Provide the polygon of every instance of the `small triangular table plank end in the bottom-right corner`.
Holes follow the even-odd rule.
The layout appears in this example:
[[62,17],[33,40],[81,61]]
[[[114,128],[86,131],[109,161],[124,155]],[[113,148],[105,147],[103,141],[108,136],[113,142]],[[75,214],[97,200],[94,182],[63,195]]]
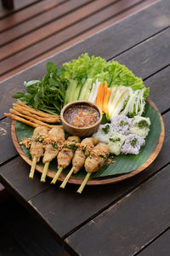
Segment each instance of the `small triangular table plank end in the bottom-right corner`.
[[153,241],[148,247],[145,247],[138,255],[139,256],[155,256],[155,255],[170,255],[170,229],[159,236],[156,241]]

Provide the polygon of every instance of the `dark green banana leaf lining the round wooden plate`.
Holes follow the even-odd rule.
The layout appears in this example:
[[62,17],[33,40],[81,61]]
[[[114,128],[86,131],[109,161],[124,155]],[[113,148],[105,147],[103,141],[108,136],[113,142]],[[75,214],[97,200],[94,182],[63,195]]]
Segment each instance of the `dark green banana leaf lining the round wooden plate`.
[[[116,162],[110,164],[109,166],[103,166],[99,169],[98,172],[95,172],[91,175],[91,178],[102,178],[102,177],[111,177],[116,175],[122,175],[128,172],[132,172],[142,166],[144,162],[150,157],[150,154],[156,147],[156,143],[161,133],[161,119],[159,113],[156,111],[156,108],[153,108],[148,102],[145,106],[144,116],[150,118],[150,132],[149,135],[145,139],[145,145],[140,149],[138,155],[118,155],[115,157]],[[15,131],[20,142],[24,137],[31,137],[33,133],[33,128],[23,123],[17,121],[15,123]],[[66,135],[68,137],[68,134]],[[29,149],[26,149],[23,145],[21,146],[26,156],[31,159],[31,155]],[[43,165],[42,161],[38,163],[39,165]],[[49,169],[57,172],[57,160],[53,160]],[[71,166],[66,168],[63,172],[67,174],[71,170]],[[86,176],[86,172],[82,169],[82,171],[77,174],[73,174],[74,177],[84,178]]]

